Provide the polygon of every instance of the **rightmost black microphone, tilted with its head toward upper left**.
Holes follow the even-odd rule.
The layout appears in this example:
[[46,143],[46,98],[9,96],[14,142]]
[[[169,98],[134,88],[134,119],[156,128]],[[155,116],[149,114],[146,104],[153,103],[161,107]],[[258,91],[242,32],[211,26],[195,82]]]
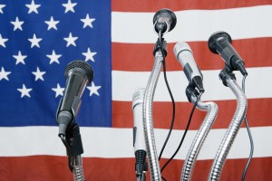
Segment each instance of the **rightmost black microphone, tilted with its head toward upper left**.
[[220,54],[223,60],[234,71],[240,71],[244,76],[248,75],[245,62],[231,45],[232,40],[226,32],[216,32],[210,35],[208,45],[210,52]]

